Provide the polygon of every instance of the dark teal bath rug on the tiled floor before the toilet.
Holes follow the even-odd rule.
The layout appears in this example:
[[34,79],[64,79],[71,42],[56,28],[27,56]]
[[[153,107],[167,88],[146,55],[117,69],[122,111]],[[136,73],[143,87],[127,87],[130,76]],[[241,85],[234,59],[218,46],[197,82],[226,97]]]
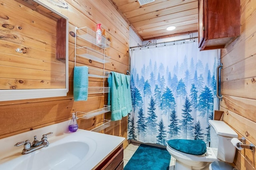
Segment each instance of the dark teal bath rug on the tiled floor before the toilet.
[[124,170],[169,170],[170,160],[166,148],[140,144]]

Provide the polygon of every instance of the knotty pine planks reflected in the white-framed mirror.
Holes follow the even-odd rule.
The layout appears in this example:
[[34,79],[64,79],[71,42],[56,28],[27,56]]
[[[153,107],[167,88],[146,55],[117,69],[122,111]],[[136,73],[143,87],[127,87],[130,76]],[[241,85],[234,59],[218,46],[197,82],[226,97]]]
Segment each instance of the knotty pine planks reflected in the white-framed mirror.
[[16,4],[1,5],[0,89],[64,89],[65,62],[55,57],[57,18]]

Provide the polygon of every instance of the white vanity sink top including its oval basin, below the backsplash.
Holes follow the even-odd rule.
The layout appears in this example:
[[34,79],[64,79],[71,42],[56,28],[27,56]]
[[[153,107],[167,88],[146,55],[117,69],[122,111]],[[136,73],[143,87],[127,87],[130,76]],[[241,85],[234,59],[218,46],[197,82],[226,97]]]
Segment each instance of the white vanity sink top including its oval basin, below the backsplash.
[[[0,139],[0,144],[6,141],[9,143]],[[48,147],[24,155],[23,146],[13,146],[19,142],[15,141],[11,143],[15,150],[9,154],[0,150],[0,170],[92,170],[123,141],[122,137],[78,129],[48,137]]]

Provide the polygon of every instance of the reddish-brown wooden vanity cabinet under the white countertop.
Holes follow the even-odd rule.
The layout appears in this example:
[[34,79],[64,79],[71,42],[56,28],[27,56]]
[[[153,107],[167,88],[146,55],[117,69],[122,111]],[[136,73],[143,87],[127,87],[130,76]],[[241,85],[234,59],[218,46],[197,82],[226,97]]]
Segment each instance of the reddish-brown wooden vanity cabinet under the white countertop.
[[108,158],[106,158],[96,170],[123,170],[124,148],[121,144]]

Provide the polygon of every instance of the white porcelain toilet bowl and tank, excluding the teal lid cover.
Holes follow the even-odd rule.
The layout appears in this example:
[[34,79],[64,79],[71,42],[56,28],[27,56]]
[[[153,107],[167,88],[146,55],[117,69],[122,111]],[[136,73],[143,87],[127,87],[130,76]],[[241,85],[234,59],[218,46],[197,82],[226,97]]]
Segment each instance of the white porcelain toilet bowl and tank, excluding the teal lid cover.
[[[206,147],[204,154],[187,154],[167,144],[166,149],[176,159],[174,170],[209,170],[209,165],[212,162],[221,160],[232,163],[234,161],[236,148],[230,140],[237,138],[238,134],[223,121],[209,120],[209,123],[211,125],[211,147]],[[186,140],[183,141],[186,142]],[[177,145],[182,146],[183,144],[179,142]]]

